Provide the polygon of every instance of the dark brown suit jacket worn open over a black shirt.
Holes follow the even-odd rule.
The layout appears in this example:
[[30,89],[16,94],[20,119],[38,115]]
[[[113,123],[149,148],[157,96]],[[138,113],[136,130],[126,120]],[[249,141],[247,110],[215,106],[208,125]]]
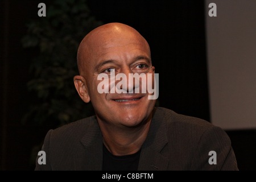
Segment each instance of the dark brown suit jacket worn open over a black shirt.
[[[102,170],[102,134],[95,116],[49,130],[46,164],[35,170]],[[217,164],[210,165],[210,151]],[[238,170],[228,135],[203,119],[155,107],[138,170]]]

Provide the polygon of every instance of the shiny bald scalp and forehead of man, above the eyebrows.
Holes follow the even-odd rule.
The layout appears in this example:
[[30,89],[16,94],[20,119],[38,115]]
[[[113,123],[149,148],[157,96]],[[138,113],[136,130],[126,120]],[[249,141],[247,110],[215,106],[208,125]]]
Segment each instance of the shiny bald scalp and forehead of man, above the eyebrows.
[[86,68],[92,64],[97,52],[102,48],[113,46],[123,46],[130,43],[141,44],[148,49],[150,55],[150,47],[146,39],[134,28],[122,23],[108,23],[90,31],[89,34],[82,39],[77,51],[77,67],[79,74],[86,77]]

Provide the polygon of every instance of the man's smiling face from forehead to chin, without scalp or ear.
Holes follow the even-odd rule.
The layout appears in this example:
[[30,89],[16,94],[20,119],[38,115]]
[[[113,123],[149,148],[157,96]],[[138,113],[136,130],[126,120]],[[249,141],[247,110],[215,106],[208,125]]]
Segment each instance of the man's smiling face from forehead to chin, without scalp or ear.
[[[146,122],[155,105],[155,100],[148,100],[149,93],[135,93],[135,81],[129,82],[129,73],[152,74],[154,86],[154,67],[151,65],[150,50],[142,39],[123,38],[119,40],[105,40],[90,51],[90,64],[86,64],[86,77],[84,79],[88,98],[92,102],[98,120],[118,127],[133,127]],[[123,73],[127,77],[127,84],[121,85],[121,89],[127,93],[98,93],[98,80],[100,73],[115,76]],[[120,80],[115,80],[115,85]],[[110,82],[110,81],[109,81]],[[142,81],[139,81],[142,88]],[[109,90],[111,86],[109,85]],[[147,88],[147,87],[146,87]],[[133,90],[133,93],[129,93]],[[154,93],[152,93],[154,94]],[[151,94],[151,95],[152,95]],[[84,100],[85,101],[85,100]]]

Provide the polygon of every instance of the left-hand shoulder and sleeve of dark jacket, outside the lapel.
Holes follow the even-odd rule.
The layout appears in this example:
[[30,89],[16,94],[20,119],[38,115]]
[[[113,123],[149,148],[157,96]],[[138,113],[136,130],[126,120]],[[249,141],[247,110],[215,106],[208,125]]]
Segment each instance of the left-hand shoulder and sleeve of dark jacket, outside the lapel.
[[[100,133],[96,116],[84,118],[76,122],[49,130],[42,150],[46,152],[46,165],[39,165],[36,159],[35,170],[74,170],[75,163],[83,156],[84,145],[81,143],[85,136],[88,143]],[[88,141],[90,139],[90,141]],[[38,156],[39,157],[39,156]],[[79,158],[73,161],[73,158]],[[72,160],[73,159],[73,160]]]

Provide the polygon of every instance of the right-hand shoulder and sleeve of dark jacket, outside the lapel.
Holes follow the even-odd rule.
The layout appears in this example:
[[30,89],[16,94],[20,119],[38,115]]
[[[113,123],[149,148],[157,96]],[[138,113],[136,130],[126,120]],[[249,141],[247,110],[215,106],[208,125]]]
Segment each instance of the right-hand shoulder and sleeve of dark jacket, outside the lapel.
[[[166,123],[170,169],[237,170],[230,139],[220,127],[165,108],[158,108],[158,114]],[[208,163],[210,151],[216,152],[217,165]]]

